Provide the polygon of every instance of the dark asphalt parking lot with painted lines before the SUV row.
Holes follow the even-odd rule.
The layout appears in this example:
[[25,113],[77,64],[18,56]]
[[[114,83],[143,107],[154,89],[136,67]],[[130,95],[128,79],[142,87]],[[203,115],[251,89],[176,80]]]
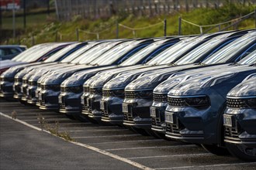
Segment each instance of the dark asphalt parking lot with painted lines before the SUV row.
[[[19,102],[2,100],[0,112],[0,169],[256,169],[256,162],[212,155],[197,145],[74,121]],[[40,131],[39,117],[72,141]]]

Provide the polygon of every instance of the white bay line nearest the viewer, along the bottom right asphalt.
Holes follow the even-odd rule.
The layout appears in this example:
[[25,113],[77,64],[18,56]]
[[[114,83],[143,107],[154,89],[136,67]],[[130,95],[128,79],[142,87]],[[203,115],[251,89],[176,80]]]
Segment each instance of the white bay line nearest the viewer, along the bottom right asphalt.
[[214,169],[216,167],[222,166],[235,166],[235,165],[256,165],[256,162],[247,162],[247,163],[234,163],[234,164],[216,164],[216,165],[199,165],[199,166],[181,166],[181,167],[172,167],[172,168],[154,168],[154,170],[164,170],[164,169],[191,169],[191,168],[211,168]]

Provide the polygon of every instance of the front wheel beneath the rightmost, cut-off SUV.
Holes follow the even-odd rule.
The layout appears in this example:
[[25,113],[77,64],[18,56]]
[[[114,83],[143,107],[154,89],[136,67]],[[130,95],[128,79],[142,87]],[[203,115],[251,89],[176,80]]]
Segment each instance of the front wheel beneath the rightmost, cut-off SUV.
[[226,143],[227,149],[232,155],[246,162],[256,162],[256,148],[249,148],[246,145],[235,145]]

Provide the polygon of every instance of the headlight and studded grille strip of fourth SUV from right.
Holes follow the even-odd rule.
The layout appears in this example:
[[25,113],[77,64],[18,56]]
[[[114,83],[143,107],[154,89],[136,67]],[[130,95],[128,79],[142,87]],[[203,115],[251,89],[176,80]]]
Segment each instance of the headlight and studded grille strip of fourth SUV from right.
[[125,97],[130,99],[152,99],[153,90],[125,91]]

